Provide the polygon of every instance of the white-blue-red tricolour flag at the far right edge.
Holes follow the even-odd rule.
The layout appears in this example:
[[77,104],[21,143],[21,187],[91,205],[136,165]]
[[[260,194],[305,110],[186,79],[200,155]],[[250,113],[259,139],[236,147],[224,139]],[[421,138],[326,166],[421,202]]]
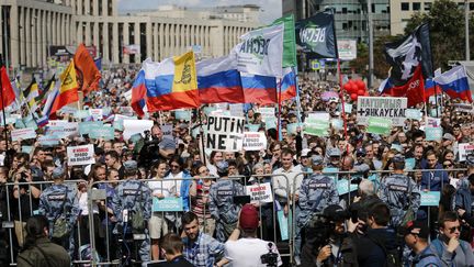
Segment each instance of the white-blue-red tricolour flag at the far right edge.
[[464,66],[455,66],[444,74],[435,77],[435,81],[451,98],[472,102],[471,90]]

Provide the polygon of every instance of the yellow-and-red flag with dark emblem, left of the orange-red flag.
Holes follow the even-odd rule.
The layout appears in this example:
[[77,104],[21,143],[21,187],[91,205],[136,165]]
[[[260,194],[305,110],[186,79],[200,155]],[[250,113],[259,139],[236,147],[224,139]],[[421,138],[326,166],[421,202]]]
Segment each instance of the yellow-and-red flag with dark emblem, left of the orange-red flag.
[[56,111],[66,104],[79,101],[78,88],[79,85],[76,78],[75,63],[71,60],[68,67],[60,75],[60,87],[59,93],[57,94],[53,107],[50,109],[50,115],[55,114]]

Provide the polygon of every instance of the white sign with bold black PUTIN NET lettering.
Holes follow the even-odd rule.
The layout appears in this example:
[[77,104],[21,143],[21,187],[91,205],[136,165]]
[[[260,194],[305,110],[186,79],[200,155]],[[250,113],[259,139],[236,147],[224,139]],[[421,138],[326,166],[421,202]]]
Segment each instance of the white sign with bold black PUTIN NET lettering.
[[245,118],[208,116],[205,147],[221,152],[238,152],[242,148]]

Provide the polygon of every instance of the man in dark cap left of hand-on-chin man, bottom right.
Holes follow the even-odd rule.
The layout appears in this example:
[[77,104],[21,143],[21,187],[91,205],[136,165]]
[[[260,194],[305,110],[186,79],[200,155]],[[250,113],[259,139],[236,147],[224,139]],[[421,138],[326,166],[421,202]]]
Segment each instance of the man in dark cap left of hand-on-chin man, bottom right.
[[411,249],[414,257],[411,266],[441,267],[440,258],[435,254],[428,243],[429,227],[420,221],[410,221],[403,227],[405,244]]

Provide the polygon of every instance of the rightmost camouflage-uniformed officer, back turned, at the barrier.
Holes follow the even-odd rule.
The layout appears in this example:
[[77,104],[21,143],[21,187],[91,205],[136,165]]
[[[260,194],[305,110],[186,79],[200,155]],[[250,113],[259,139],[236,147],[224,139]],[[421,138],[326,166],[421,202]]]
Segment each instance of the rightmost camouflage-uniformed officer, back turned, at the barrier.
[[380,198],[391,209],[392,226],[397,227],[409,209],[414,214],[417,213],[421,196],[416,182],[404,175],[405,157],[395,155],[392,164],[393,175],[382,180]]

